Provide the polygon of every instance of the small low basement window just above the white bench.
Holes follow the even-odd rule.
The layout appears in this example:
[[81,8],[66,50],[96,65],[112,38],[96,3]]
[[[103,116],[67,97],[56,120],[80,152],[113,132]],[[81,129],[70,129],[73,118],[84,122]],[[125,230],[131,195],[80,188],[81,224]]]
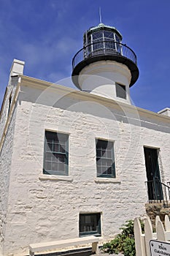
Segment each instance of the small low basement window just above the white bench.
[[101,236],[101,214],[80,214],[80,236]]

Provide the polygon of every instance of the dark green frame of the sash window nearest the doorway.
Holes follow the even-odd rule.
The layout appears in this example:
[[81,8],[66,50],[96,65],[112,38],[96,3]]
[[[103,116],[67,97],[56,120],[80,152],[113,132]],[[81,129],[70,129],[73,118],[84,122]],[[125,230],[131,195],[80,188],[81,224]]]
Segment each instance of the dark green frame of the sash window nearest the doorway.
[[[98,156],[98,154],[97,154],[98,150],[99,150],[99,147],[97,147],[98,146],[98,141],[99,142],[103,141],[104,143],[107,143],[107,146],[108,146],[108,143],[112,143],[112,148],[110,150],[110,157],[103,157],[104,155]],[[105,150],[104,154],[108,154],[108,153],[109,153],[109,151]],[[100,173],[98,172],[98,167],[102,166],[102,165],[98,165],[98,160],[102,161],[102,159],[104,159],[106,162],[107,162],[107,160],[112,162],[112,166],[110,166],[112,168],[111,169],[112,173],[103,174],[102,172],[100,172]],[[96,138],[96,176],[97,176],[97,178],[116,178],[116,172],[115,172],[115,142],[113,140],[104,140],[104,139],[101,139],[101,138]]]

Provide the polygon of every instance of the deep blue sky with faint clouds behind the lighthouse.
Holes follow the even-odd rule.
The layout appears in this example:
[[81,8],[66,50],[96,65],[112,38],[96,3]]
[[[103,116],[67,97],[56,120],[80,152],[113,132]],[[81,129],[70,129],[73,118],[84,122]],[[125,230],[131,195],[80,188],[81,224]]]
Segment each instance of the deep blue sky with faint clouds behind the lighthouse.
[[72,74],[82,34],[102,22],[115,26],[134,50],[139,79],[131,98],[140,108],[170,108],[169,0],[0,0],[0,105],[13,59],[24,75],[56,82]]

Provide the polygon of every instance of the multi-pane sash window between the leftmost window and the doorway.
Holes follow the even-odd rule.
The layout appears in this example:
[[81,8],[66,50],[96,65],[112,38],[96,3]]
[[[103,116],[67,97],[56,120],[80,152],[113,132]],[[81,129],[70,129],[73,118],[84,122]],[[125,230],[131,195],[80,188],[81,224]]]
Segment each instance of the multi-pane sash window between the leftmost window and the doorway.
[[96,140],[97,177],[115,178],[113,142]]

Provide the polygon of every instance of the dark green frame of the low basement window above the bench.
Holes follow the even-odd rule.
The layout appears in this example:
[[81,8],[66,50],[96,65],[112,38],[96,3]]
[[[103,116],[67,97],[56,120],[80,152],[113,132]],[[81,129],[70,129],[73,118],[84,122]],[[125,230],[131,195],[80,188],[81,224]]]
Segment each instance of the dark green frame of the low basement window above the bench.
[[[96,230],[90,230],[90,231],[80,231],[80,226],[85,225],[85,227],[88,226],[87,222],[80,222],[81,217],[96,217]],[[91,222],[90,222],[91,224]],[[90,227],[90,226],[89,226]],[[101,236],[101,212],[96,213],[80,213],[79,214],[79,236]]]

